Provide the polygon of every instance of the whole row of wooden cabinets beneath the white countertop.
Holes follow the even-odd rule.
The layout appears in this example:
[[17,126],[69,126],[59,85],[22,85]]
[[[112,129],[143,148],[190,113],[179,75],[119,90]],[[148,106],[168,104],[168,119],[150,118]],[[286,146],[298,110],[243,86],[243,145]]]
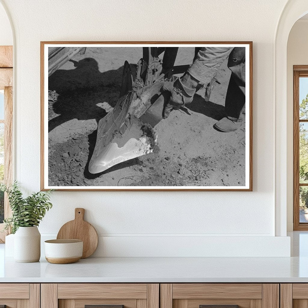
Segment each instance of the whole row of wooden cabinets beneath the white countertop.
[[6,308],[308,308],[308,284],[2,283],[0,308],[2,305]]

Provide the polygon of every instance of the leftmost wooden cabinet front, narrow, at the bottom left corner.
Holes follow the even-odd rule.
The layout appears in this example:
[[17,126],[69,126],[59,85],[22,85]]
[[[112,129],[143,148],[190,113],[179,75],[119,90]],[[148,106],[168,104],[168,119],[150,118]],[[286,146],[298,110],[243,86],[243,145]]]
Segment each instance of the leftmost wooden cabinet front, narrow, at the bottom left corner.
[[0,307],[40,308],[38,283],[0,283]]

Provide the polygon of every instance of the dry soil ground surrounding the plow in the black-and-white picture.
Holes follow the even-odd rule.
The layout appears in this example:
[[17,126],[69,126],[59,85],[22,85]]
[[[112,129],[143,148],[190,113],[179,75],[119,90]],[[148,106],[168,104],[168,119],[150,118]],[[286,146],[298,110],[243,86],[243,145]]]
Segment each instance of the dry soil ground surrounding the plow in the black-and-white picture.
[[[192,62],[194,49],[179,48],[176,65]],[[172,111],[154,131],[159,151],[100,174],[87,165],[98,121],[117,102],[124,60],[135,71],[141,48],[87,48],[49,77],[48,170],[55,186],[242,186],[245,185],[245,123],[236,132],[213,128],[224,116],[230,71],[224,63],[210,101],[204,89],[187,110]]]

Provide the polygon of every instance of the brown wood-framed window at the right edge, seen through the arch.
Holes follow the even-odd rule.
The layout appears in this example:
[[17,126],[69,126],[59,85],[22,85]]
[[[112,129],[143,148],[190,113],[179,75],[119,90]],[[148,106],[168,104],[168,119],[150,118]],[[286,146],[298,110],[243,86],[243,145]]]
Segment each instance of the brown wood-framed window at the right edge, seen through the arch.
[[294,230],[308,230],[308,65],[293,67]]

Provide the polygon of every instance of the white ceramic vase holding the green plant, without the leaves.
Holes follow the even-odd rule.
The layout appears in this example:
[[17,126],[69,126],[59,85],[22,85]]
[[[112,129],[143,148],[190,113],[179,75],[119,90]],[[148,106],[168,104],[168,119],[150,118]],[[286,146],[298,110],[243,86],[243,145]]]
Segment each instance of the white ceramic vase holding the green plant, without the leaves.
[[37,227],[19,227],[14,234],[14,260],[38,262],[41,257],[41,234]]

